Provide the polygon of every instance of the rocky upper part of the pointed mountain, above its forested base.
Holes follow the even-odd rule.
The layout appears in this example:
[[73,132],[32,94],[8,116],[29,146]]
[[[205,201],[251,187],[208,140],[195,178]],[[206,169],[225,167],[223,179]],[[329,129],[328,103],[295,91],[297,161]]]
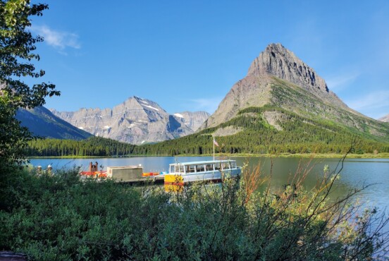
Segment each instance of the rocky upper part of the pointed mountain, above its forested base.
[[386,135],[381,125],[376,126],[375,120],[347,107],[313,68],[281,44],[269,44],[254,59],[246,77],[233,85],[200,129],[233,119],[242,109],[264,105],[287,109],[311,119],[341,123],[347,128],[366,131],[369,126],[370,134]]

